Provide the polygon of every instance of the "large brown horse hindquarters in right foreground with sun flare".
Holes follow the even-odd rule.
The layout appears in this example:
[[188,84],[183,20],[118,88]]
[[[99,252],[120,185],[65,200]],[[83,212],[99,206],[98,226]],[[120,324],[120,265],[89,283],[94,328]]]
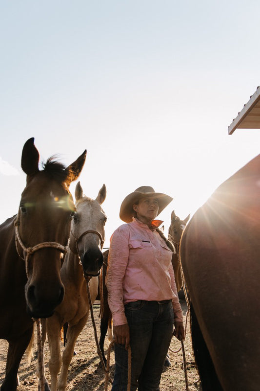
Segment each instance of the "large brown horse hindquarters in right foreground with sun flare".
[[180,242],[203,390],[260,390],[260,155],[197,210]]

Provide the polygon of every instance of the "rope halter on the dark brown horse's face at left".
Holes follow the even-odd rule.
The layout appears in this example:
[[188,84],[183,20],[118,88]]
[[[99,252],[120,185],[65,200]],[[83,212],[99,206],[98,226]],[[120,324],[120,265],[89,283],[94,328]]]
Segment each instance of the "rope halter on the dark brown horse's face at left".
[[[26,273],[27,273],[27,263],[28,263],[29,257],[30,257],[30,255],[32,255],[36,251],[38,251],[40,249],[44,249],[44,248],[54,248],[54,249],[59,250],[62,254],[65,254],[68,251],[69,240],[68,240],[66,246],[62,246],[60,243],[57,243],[57,242],[42,242],[42,243],[38,243],[34,247],[25,247],[23,242],[22,242],[22,240],[21,240],[20,232],[19,232],[20,211],[18,212],[17,219],[15,220],[14,225],[15,225],[15,245],[16,245],[16,251],[17,251],[18,255],[20,256],[20,258],[23,261],[25,261]],[[25,259],[19,253],[18,242],[19,242],[22,250],[26,253],[26,258]],[[62,258],[63,258],[63,255],[61,256],[61,259]],[[27,276],[28,276],[28,274],[27,274]]]

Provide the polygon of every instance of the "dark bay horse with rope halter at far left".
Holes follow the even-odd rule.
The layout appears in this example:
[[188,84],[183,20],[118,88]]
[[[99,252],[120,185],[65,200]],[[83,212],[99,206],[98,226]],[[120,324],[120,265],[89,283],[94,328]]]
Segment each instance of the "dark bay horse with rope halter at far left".
[[0,338],[9,343],[1,391],[17,390],[18,368],[33,332],[32,318],[53,314],[64,295],[60,279],[75,205],[68,190],[80,175],[86,151],[70,166],[49,159],[39,170],[34,138],[26,141],[27,174],[18,214],[0,226]]

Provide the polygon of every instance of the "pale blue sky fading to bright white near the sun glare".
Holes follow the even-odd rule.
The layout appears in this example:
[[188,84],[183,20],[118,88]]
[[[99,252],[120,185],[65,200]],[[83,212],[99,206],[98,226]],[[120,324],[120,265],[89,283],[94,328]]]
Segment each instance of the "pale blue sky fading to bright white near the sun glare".
[[[0,223],[17,213],[21,151],[65,165],[87,149],[85,195],[107,197],[105,247],[141,185],[184,219],[259,154],[260,130],[227,128],[260,85],[258,0],[0,4]],[[74,195],[77,182],[71,184]]]

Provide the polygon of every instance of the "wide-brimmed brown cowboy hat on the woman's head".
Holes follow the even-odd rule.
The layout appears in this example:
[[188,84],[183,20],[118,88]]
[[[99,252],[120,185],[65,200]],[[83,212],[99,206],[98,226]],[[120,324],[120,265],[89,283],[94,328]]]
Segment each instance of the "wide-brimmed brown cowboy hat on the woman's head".
[[126,196],[123,200],[119,213],[120,219],[125,223],[130,223],[134,216],[133,205],[138,204],[138,201],[143,197],[154,197],[158,200],[158,214],[160,214],[160,212],[173,200],[172,197],[167,196],[166,194],[156,193],[151,186],[138,187],[133,193],[128,194],[128,196]]

